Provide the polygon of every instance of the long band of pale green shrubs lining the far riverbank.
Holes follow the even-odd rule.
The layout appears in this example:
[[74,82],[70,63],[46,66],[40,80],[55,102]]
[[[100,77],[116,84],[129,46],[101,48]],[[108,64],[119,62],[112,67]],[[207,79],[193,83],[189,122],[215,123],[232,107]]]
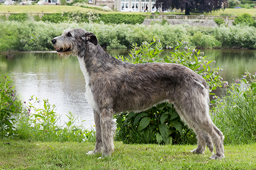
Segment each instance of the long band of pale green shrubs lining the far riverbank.
[[103,24],[103,23],[45,23],[5,21],[0,24],[0,52],[54,50],[51,39],[68,28],[93,32],[102,47],[129,48],[132,44],[161,40],[163,48],[176,46],[185,40],[195,48],[255,49],[256,28],[247,25],[233,27],[191,27],[191,25]]

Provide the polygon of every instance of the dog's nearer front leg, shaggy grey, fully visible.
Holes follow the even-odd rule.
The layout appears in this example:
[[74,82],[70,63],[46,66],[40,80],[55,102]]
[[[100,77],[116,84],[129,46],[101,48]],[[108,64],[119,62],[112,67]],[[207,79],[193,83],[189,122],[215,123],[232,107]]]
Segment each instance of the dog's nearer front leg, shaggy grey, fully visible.
[[115,122],[112,109],[102,109],[100,116],[102,157],[110,156],[114,151]]

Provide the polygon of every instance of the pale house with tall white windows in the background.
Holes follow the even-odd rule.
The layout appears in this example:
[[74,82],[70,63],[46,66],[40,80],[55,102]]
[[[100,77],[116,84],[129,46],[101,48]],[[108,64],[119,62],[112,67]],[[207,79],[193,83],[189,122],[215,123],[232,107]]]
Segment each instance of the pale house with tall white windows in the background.
[[107,5],[117,11],[156,12],[155,0],[92,0],[93,5]]

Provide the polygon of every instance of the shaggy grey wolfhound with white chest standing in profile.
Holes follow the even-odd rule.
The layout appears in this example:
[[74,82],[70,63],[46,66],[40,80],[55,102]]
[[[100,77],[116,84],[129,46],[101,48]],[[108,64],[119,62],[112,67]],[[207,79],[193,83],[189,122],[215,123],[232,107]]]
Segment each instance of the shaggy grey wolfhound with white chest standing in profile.
[[192,152],[202,154],[207,146],[224,157],[223,134],[209,115],[209,87],[193,70],[172,63],[131,64],[106,53],[91,32],[69,29],[52,39],[62,56],[77,56],[85,77],[86,99],[93,108],[96,144],[87,155],[102,152],[102,157],[114,151],[115,122],[113,114],[145,111],[169,102],[181,119],[197,134],[198,147]]

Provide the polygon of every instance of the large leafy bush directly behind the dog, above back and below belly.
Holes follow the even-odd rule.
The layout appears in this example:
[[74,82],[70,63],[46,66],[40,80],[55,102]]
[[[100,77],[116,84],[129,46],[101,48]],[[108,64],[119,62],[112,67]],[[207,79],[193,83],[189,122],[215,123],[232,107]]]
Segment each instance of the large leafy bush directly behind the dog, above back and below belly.
[[[178,44],[175,48],[167,46],[166,48],[172,48],[174,52],[170,52],[171,56],[163,58],[159,58],[163,51],[160,40],[154,39],[150,44],[144,42],[141,46],[135,44],[130,51],[132,63],[166,62],[181,64],[206,79],[210,91],[221,87],[222,78],[218,75],[220,69],[211,69],[209,66],[214,61],[206,61],[203,57],[204,53],[188,48],[186,41],[178,41]],[[192,56],[195,58],[194,62],[192,62]],[[121,56],[119,60],[124,60],[124,58]],[[215,103],[215,100],[212,103]],[[121,113],[115,118],[118,128],[116,140],[121,140],[124,143],[162,143],[167,145],[171,143],[194,144],[196,141],[195,134],[181,122],[173,105],[169,103],[158,104],[141,113]]]

